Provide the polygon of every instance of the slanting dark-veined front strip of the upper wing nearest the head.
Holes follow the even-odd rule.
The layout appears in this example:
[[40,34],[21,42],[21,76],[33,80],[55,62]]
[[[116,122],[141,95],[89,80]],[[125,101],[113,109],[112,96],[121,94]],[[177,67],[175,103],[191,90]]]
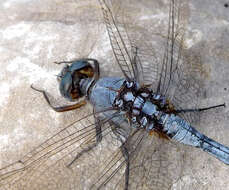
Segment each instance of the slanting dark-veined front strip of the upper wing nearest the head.
[[116,62],[127,80],[135,79],[140,82],[141,65],[137,61],[137,49],[131,44],[122,22],[121,3],[109,0],[99,2]]

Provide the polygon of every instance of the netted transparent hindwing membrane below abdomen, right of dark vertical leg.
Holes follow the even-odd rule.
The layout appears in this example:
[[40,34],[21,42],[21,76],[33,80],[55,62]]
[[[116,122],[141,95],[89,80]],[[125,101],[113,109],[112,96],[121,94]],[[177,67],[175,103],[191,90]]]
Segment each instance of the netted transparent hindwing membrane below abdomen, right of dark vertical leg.
[[183,153],[167,139],[141,133],[142,140],[131,155],[130,189],[169,189],[182,175]]

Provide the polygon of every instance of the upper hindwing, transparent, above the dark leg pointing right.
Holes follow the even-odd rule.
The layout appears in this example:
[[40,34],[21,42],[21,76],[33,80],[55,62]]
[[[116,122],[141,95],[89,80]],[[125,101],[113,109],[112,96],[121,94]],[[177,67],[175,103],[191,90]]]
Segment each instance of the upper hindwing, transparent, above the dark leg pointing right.
[[[176,110],[195,109],[199,106],[207,73],[201,62],[200,53],[185,47],[185,32],[189,15],[188,1],[171,0],[169,3],[167,34],[164,35],[162,31],[155,36],[158,38],[156,44],[159,50],[162,46],[165,50],[162,59],[158,61],[157,71],[159,72],[157,77],[154,77],[156,85],[152,86],[152,89],[165,96]],[[152,68],[155,66],[153,65]],[[196,112],[178,115],[190,123],[200,118],[200,113]]]

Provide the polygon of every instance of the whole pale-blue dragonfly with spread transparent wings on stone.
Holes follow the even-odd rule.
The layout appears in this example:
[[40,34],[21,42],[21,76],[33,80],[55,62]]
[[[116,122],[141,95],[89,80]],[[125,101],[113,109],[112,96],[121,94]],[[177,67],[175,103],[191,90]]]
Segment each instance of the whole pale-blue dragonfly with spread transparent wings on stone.
[[[1,188],[63,189],[68,182],[67,189],[80,189],[81,184],[81,189],[169,189],[174,176],[180,176],[181,160],[173,159],[178,143],[201,148],[229,164],[229,148],[192,126],[201,112],[225,104],[198,107],[199,80],[194,76],[199,66],[188,60],[183,47],[187,3],[169,1],[167,34],[154,34],[158,51],[160,44],[164,47],[161,60],[152,42],[143,39],[147,29],[139,29],[137,35],[128,15],[124,20],[125,12],[112,3],[99,1],[122,77],[100,77],[99,61],[92,58],[57,62],[65,65],[58,75],[60,93],[75,104],[54,107],[46,91],[31,87],[57,112],[81,109],[90,102],[92,113],[3,167]],[[112,152],[105,160],[100,155],[105,150],[98,150],[102,141]],[[102,163],[99,167],[88,160],[91,152]],[[77,164],[84,162],[94,173],[81,173],[79,179]],[[63,170],[68,175],[58,177]]]

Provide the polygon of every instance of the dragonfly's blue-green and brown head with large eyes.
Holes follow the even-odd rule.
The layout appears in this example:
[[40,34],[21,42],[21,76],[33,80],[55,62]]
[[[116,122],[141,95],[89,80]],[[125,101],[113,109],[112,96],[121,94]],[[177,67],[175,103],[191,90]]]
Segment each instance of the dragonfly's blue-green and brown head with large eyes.
[[61,95],[70,101],[84,96],[80,90],[80,81],[93,76],[93,67],[87,60],[77,60],[66,65],[57,78]]

